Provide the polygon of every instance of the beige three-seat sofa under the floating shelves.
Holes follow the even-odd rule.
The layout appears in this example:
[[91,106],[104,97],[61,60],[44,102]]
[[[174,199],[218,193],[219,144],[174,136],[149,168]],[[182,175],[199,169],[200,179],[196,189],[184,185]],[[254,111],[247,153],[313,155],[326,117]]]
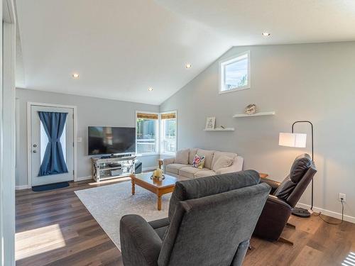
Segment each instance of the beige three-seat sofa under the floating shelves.
[[[192,167],[195,155],[204,155],[204,168]],[[223,159],[219,160],[220,157]],[[232,162],[228,167],[218,169],[219,162],[228,158]],[[217,162],[217,164],[216,164]],[[217,150],[202,150],[199,148],[180,150],[174,158],[164,159],[164,172],[183,179],[195,179],[200,177],[209,177],[215,174],[224,174],[228,172],[238,172],[242,170],[244,159],[236,153],[224,153]]]

